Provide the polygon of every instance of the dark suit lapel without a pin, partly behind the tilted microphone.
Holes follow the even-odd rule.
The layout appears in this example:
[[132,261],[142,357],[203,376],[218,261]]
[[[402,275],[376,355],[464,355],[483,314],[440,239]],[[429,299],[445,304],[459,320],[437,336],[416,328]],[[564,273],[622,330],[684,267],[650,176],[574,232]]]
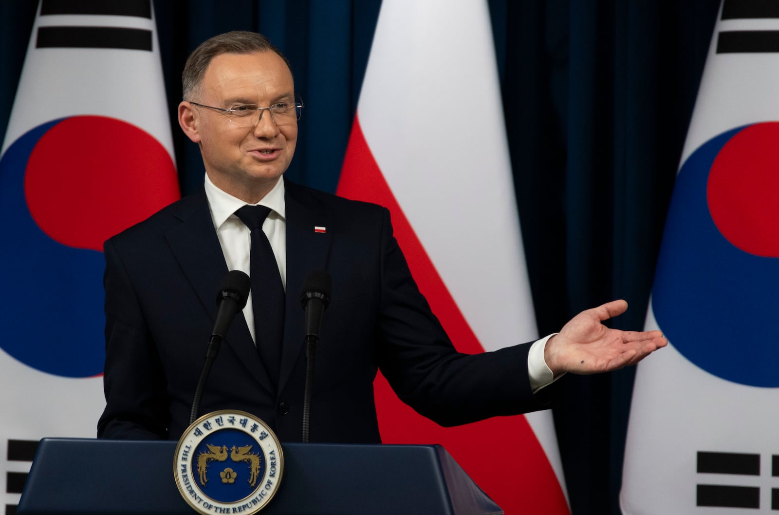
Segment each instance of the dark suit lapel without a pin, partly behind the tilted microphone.
[[[227,264],[224,263],[224,253],[217,233],[213,229],[213,220],[211,220],[205,192],[199,192],[190,200],[180,204],[178,211],[174,213],[182,223],[167,232],[167,241],[213,323],[217,318],[217,293],[221,280],[227,273]],[[203,335],[204,352],[209,336]],[[242,312],[238,312],[235,316],[223,347],[228,347],[234,352],[238,360],[263,388],[269,392],[274,391],[259,361],[257,349]]]

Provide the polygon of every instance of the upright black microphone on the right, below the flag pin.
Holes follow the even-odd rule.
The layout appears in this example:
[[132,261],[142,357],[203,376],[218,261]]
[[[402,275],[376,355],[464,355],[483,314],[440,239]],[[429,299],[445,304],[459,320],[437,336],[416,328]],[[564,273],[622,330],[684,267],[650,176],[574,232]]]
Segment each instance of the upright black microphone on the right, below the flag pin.
[[305,387],[303,389],[303,442],[308,443],[311,426],[311,383],[314,379],[314,355],[319,341],[322,314],[330,304],[330,290],[333,280],[325,270],[308,274],[303,283],[301,305],[305,309]]

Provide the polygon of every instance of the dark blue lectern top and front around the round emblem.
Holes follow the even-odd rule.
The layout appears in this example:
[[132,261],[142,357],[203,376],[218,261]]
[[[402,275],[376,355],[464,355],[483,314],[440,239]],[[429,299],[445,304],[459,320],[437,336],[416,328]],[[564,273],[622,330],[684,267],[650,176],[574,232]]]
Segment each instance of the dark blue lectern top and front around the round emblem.
[[[195,513],[174,481],[176,443],[43,439],[20,515]],[[282,443],[263,515],[500,515],[442,446]],[[231,514],[232,515],[232,514]]]

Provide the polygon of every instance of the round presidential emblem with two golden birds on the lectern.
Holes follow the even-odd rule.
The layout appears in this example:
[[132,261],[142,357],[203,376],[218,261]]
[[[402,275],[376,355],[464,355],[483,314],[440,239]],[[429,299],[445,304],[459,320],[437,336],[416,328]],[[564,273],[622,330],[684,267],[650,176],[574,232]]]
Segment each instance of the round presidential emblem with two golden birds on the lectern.
[[199,513],[252,515],[273,498],[284,456],[273,431],[245,411],[205,414],[178,440],[174,476]]

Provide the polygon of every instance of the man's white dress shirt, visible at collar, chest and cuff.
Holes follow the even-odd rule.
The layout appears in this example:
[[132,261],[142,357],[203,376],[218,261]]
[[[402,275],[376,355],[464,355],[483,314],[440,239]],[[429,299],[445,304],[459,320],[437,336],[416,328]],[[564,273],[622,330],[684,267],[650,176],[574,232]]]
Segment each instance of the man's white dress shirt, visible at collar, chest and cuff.
[[[206,198],[211,211],[211,220],[213,221],[213,227],[217,230],[219,243],[222,245],[227,270],[241,270],[249,275],[252,235],[249,228],[235,216],[235,211],[246,206],[247,203],[217,188],[208,178],[208,174],[206,174],[205,186]],[[273,255],[276,256],[281,283],[284,284],[284,290],[286,291],[287,211],[284,205],[284,181],[279,178],[273,189],[255,205],[267,206],[271,209],[268,217],[265,219],[265,223],[263,223],[263,232],[268,237],[270,247],[273,249]],[[246,302],[243,313],[246,323],[249,325],[249,333],[252,334],[252,340],[256,341],[251,295],[249,295],[249,300]],[[534,342],[527,356],[527,373],[530,376],[530,386],[534,392],[555,381],[552,370],[549,369],[544,360],[544,347],[547,340],[552,336],[550,334]]]

